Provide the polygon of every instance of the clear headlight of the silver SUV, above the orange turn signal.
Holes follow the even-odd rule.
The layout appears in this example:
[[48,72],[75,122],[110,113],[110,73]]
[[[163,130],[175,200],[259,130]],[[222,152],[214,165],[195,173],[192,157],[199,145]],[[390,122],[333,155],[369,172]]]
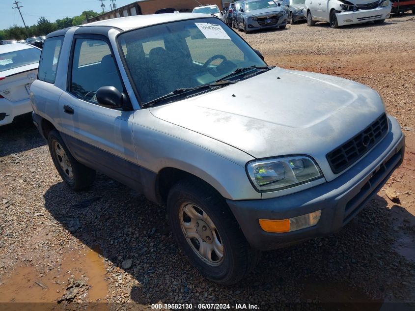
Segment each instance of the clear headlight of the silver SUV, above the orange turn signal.
[[294,187],[323,176],[317,164],[306,156],[249,162],[247,171],[252,184],[260,192]]

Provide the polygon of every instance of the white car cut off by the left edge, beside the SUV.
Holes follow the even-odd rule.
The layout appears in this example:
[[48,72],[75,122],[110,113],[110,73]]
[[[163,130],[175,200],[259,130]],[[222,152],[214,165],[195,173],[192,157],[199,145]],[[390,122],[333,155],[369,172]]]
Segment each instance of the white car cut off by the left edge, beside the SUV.
[[26,43],[0,46],[0,126],[32,111],[29,92],[37,79],[40,52]]

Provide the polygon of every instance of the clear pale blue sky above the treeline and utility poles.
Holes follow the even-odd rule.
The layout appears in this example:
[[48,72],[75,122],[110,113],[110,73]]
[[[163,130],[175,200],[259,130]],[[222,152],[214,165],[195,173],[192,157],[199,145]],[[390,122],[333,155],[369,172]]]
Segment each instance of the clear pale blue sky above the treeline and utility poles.
[[[41,16],[45,16],[51,22],[64,17],[81,15],[83,11],[93,10],[102,12],[101,0],[20,0],[19,5],[26,26],[37,24]],[[116,0],[117,7],[134,2],[135,0]],[[22,18],[13,4],[14,0],[0,0],[0,29],[9,28],[16,24],[23,27]],[[104,0],[106,11],[110,11],[110,0]]]

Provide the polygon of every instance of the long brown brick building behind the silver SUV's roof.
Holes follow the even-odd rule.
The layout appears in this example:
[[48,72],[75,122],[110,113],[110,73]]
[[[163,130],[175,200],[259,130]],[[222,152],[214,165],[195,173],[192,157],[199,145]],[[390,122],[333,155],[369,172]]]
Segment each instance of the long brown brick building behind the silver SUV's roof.
[[220,9],[223,7],[222,0],[140,0],[90,18],[85,23],[117,17],[154,14],[157,10],[170,7],[175,8],[179,12],[192,12],[193,8],[199,5],[198,2],[203,5],[216,4]]

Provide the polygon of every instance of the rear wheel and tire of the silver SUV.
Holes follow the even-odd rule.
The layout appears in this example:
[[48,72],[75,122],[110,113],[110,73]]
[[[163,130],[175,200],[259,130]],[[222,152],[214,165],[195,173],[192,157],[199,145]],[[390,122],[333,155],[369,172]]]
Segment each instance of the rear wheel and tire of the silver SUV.
[[74,159],[57,130],[49,132],[48,145],[55,168],[69,188],[75,191],[88,189],[95,180],[95,170]]

